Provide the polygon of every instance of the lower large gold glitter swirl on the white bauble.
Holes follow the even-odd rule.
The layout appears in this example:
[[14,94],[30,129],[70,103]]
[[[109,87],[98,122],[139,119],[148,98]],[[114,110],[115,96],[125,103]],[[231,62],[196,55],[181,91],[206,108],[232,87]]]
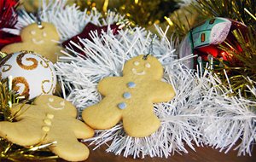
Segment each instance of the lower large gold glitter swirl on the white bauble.
[[12,81],[12,84],[13,84],[13,90],[15,91],[19,91],[20,90],[20,86],[18,84],[23,84],[24,85],[24,90],[20,93],[21,96],[25,96],[26,99],[29,98],[29,84],[27,83],[26,81],[26,78],[24,77],[16,77],[16,78],[13,78],[13,81]]

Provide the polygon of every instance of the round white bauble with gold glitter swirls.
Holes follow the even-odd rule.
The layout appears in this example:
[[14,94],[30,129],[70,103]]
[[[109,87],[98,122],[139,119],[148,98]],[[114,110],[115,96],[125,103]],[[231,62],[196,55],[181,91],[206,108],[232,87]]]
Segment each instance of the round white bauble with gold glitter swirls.
[[21,51],[7,55],[0,62],[0,77],[12,77],[12,87],[20,95],[32,99],[55,92],[56,75],[53,64],[45,57]]

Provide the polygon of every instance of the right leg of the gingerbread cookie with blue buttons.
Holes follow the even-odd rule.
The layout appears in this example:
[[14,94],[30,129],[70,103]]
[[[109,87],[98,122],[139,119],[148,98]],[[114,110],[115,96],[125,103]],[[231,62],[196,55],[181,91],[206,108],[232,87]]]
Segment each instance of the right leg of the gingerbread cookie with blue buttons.
[[125,132],[129,136],[143,137],[154,133],[160,127],[160,120],[153,113],[153,104],[141,104],[143,107],[136,106],[134,110],[148,109],[152,107],[152,111],[131,111],[124,113],[123,124]]

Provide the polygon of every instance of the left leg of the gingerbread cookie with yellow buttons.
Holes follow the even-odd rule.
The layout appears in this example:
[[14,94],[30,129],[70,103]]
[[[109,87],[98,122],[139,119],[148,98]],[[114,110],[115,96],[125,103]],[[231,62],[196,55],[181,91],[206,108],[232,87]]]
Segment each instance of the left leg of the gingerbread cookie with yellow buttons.
[[30,146],[41,142],[41,136],[44,136],[44,134],[42,133],[41,128],[38,127],[38,125],[35,125],[35,121],[22,119],[16,123],[7,121],[0,122],[0,136],[3,138],[6,137],[10,142],[16,144]]

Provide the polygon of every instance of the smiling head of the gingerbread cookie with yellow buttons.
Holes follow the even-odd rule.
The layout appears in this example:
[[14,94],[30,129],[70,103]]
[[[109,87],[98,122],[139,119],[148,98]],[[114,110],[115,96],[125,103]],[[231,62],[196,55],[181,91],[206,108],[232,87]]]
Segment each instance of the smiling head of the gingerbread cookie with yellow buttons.
[[77,116],[77,109],[72,103],[55,95],[40,95],[34,103],[35,105],[41,105],[51,111],[62,111],[68,113],[72,117]]

